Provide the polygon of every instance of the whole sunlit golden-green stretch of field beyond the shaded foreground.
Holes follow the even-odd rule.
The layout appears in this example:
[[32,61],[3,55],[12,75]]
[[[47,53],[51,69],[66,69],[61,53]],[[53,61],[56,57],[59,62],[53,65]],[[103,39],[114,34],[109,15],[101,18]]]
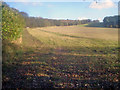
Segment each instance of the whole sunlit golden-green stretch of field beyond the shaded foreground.
[[28,32],[44,44],[65,47],[109,47],[118,45],[118,29],[79,26],[34,28]]

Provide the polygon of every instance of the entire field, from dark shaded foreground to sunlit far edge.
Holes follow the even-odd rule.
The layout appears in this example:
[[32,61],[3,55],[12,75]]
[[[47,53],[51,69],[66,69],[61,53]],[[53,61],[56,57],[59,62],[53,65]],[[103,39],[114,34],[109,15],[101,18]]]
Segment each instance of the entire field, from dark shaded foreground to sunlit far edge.
[[120,88],[118,29],[28,28],[22,46],[4,87]]

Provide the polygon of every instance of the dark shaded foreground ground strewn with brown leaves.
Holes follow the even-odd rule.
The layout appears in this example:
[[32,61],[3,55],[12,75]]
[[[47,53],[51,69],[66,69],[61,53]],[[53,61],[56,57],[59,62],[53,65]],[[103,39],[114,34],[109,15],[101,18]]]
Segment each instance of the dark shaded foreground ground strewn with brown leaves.
[[105,57],[69,55],[63,50],[26,52],[3,72],[3,89],[120,88],[119,69],[112,69]]

